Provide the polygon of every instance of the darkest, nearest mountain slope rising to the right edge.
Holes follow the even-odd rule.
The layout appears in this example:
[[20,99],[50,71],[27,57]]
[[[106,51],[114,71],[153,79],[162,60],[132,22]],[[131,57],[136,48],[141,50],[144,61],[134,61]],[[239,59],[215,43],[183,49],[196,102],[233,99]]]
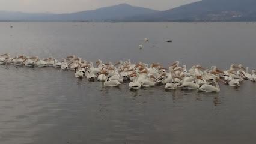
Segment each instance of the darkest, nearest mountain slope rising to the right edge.
[[122,21],[255,21],[255,0],[203,0]]

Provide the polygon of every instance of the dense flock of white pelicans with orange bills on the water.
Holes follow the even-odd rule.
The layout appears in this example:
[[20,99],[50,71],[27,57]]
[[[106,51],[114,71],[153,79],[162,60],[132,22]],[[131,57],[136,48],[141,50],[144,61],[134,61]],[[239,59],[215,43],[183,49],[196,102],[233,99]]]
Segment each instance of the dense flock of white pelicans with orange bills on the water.
[[25,65],[26,67],[53,67],[60,70],[73,70],[74,76],[78,78],[86,77],[87,80],[98,80],[105,86],[120,86],[124,81],[129,82],[130,89],[140,89],[143,87],[152,87],[164,85],[166,90],[175,89],[197,89],[203,92],[219,92],[219,82],[228,86],[239,87],[243,80],[256,82],[255,70],[249,73],[249,68],[242,65],[230,65],[228,70],[222,71],[216,66],[210,70],[194,65],[189,70],[186,65],[180,66],[179,61],[169,65],[169,68],[161,64],[145,64],[138,62],[132,64],[128,61],[119,61],[112,65],[112,62],[105,64],[99,59],[95,65],[93,62],[87,62],[75,55],[62,58],[59,62],[50,56],[41,60],[38,56],[14,56],[10,57],[8,53],[0,55],[0,64]]

